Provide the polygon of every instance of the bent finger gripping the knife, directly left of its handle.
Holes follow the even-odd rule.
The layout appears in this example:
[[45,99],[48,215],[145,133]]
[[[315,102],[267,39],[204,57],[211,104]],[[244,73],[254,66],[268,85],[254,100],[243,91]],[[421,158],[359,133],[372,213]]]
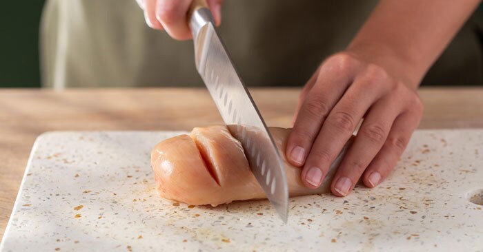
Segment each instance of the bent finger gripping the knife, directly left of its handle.
[[192,36],[186,21],[190,4],[191,0],[157,1],[155,17],[173,39],[186,40]]

